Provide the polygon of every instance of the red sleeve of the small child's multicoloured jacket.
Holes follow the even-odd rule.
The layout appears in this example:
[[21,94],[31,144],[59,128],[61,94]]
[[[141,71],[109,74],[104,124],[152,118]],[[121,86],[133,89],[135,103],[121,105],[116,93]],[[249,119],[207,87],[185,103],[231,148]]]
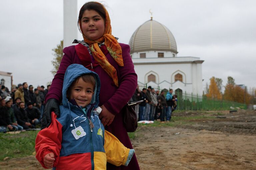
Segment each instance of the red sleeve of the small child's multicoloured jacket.
[[55,167],[59,161],[61,139],[62,139],[62,125],[56,120],[57,116],[52,112],[52,123],[48,128],[40,130],[36,136],[35,149],[36,159],[44,165],[44,156],[50,152],[55,155],[53,166]]

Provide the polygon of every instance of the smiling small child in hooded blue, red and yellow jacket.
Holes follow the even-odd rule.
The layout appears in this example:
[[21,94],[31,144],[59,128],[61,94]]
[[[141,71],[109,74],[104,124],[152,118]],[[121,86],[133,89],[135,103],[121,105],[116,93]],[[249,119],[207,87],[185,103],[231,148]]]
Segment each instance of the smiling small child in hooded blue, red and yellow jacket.
[[[60,117],[36,137],[36,158],[44,168],[106,169],[106,162],[127,166],[134,153],[99,120],[99,76],[80,64],[65,73]],[[66,97],[64,97],[66,96]]]

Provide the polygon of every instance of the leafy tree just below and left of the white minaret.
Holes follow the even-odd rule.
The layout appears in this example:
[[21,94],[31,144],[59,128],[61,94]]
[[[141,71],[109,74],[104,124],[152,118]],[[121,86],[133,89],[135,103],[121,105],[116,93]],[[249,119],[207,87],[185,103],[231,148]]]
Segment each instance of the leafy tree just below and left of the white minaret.
[[55,75],[59,69],[60,61],[63,56],[63,40],[61,40],[60,44],[58,44],[57,47],[53,48],[52,50],[54,51],[54,58],[52,60],[53,69],[51,70],[51,73]]

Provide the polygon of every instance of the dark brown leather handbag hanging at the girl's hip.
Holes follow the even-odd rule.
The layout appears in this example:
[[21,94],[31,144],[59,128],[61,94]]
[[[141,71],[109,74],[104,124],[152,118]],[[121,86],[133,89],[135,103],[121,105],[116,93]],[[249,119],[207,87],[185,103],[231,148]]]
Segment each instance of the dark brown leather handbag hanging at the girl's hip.
[[127,132],[135,132],[138,128],[137,115],[132,107],[140,104],[143,101],[144,100],[127,103],[121,110],[123,114],[124,126]]

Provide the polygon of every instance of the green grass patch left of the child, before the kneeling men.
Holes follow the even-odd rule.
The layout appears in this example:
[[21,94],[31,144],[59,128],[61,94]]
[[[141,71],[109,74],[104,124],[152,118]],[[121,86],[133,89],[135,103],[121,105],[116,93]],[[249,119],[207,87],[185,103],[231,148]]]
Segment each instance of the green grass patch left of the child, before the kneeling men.
[[0,133],[0,161],[5,157],[17,158],[32,155],[38,130],[18,134]]

